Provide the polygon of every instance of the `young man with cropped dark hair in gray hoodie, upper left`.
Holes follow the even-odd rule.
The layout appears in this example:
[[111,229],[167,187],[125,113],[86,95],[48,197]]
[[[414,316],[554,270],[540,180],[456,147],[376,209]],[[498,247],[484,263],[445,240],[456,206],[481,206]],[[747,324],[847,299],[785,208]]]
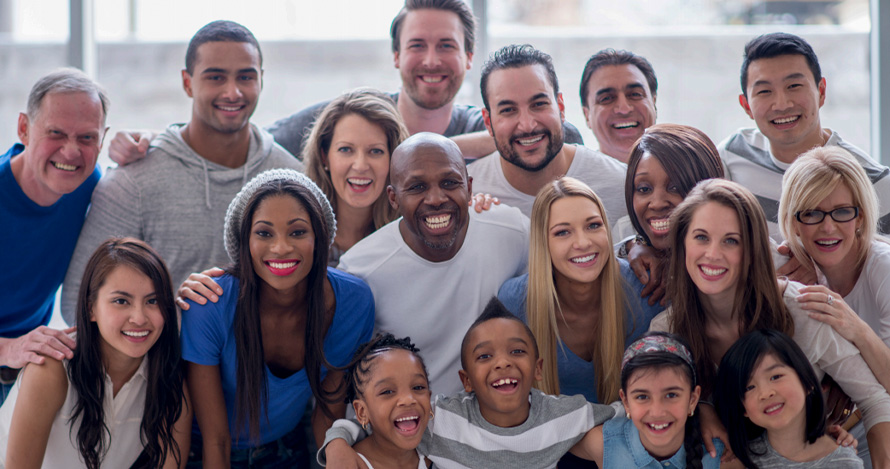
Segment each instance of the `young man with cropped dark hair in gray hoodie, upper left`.
[[303,166],[249,122],[262,90],[262,53],[247,28],[214,21],[192,37],[182,86],[192,118],[169,126],[147,156],[109,169],[93,192],[62,290],[73,323],[86,262],[111,236],[146,241],[167,262],[174,287],[189,273],[228,264],[223,220],[241,186],[262,171]]

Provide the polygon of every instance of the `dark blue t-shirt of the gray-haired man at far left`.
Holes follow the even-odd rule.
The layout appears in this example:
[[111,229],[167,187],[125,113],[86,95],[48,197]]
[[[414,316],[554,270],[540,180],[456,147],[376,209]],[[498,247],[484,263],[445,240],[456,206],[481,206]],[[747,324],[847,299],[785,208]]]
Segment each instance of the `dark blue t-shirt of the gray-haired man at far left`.
[[0,337],[7,338],[49,324],[101,175],[97,166],[74,192],[42,207],[12,174],[9,163],[24,149],[16,143],[0,156]]

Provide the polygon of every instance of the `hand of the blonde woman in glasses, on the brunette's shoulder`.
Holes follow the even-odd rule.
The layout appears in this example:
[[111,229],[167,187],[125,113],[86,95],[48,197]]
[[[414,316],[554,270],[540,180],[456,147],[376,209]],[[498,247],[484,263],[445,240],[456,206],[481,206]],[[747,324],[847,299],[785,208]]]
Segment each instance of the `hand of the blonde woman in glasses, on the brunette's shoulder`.
[[850,308],[841,295],[822,285],[810,285],[800,289],[797,301],[808,315],[831,326],[841,337],[857,345],[869,331],[868,324]]

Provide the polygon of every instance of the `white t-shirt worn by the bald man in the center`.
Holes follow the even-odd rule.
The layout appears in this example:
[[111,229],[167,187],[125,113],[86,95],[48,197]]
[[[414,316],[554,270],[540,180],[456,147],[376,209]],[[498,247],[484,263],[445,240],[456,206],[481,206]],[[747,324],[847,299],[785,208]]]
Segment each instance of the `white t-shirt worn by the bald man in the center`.
[[463,245],[447,261],[411,250],[399,218],[346,251],[338,267],[371,287],[376,330],[409,336],[420,348],[434,395],[463,389],[457,372],[464,334],[501,284],[528,264],[527,217],[504,206],[469,212]]

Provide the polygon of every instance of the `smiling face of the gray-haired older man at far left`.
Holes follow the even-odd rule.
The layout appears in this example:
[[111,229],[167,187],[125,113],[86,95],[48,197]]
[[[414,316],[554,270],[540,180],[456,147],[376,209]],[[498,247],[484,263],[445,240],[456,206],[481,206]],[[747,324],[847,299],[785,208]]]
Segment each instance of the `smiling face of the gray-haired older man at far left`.
[[18,134],[25,151],[21,172],[13,169],[25,194],[49,206],[73,192],[93,173],[105,136],[105,116],[98,96],[49,93],[36,116],[19,116]]

